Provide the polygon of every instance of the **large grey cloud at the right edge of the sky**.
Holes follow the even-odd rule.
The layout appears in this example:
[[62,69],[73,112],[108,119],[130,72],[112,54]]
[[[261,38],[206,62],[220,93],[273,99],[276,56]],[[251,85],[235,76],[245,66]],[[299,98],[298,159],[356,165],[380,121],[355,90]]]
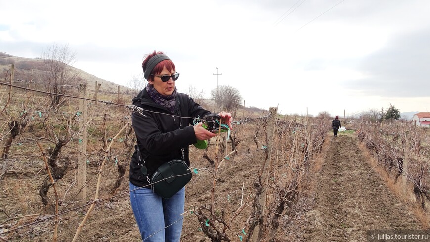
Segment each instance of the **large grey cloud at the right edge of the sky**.
[[363,59],[358,71],[368,78],[345,87],[387,97],[430,96],[430,28],[403,33]]

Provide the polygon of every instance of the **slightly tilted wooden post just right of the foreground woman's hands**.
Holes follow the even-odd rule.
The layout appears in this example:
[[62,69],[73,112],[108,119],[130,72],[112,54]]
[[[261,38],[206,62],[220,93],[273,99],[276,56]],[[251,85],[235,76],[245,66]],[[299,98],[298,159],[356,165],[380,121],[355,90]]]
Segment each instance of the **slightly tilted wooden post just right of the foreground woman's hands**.
[[[276,122],[276,113],[277,110],[275,107],[269,108],[270,116],[269,120],[267,121],[267,151],[269,152],[268,160],[264,162],[262,167],[262,174],[261,174],[261,180],[264,182],[262,184],[262,193],[258,198],[258,203],[261,204],[261,216],[264,218],[264,212],[266,208],[266,195],[267,195],[267,185],[269,183],[269,177],[270,177],[270,166],[272,161],[272,142],[273,142],[273,134],[275,131],[275,122]],[[255,227],[255,230],[253,232],[253,238],[251,241],[261,241],[261,237],[263,234],[263,223],[264,220],[261,220],[262,224],[258,224]]]

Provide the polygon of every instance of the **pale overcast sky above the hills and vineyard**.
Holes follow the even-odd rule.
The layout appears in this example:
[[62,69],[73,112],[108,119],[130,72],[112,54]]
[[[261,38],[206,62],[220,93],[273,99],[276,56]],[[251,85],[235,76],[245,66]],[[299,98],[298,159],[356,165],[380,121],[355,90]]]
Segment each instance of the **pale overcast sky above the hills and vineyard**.
[[[64,3],[63,3],[64,2]],[[117,84],[145,54],[175,63],[179,92],[230,85],[246,106],[351,115],[430,112],[430,0],[0,0],[0,51],[51,44]]]

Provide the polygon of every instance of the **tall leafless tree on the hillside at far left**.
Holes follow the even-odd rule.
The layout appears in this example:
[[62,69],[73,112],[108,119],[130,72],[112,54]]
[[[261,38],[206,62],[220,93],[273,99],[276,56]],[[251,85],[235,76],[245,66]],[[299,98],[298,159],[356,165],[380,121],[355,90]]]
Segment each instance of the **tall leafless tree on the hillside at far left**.
[[[59,46],[54,43],[43,52],[42,59],[48,75],[49,92],[67,94],[71,90],[71,85],[76,85],[79,81],[71,66],[75,62],[75,56],[76,53],[70,51],[68,44]],[[51,96],[51,108],[54,111],[63,103],[62,96]]]

